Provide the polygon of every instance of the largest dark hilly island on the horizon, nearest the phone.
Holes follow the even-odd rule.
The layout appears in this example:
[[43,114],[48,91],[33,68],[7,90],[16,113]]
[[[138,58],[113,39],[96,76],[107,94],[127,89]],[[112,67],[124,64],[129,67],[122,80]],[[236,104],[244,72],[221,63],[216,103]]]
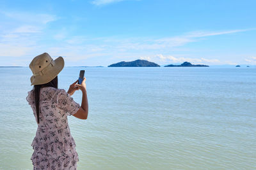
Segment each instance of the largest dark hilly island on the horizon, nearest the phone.
[[118,62],[115,64],[111,64],[108,67],[160,67],[158,64],[154,62],[149,62],[147,60],[134,60],[130,62]]

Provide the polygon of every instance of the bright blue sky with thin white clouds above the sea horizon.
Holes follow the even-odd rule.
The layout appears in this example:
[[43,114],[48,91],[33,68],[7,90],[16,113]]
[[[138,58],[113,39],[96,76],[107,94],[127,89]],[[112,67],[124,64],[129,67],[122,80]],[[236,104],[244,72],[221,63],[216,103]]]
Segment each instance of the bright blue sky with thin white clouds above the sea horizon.
[[0,66],[256,65],[256,1],[0,0]]

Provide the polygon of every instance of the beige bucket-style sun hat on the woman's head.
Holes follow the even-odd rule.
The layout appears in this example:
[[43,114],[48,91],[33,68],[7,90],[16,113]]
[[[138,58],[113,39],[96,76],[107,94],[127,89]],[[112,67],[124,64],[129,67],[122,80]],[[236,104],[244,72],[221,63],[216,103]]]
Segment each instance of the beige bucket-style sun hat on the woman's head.
[[53,60],[48,53],[36,56],[29,64],[29,68],[33,73],[33,76],[30,78],[31,85],[49,83],[60,73],[63,67],[63,57]]

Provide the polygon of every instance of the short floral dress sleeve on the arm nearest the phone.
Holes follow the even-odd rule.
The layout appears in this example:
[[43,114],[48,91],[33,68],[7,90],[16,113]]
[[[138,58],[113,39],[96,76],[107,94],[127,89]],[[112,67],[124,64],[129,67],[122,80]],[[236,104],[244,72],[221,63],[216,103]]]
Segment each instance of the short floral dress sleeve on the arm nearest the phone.
[[64,89],[60,89],[57,97],[57,107],[65,111],[68,116],[74,115],[80,108],[80,104],[76,103],[74,99]]

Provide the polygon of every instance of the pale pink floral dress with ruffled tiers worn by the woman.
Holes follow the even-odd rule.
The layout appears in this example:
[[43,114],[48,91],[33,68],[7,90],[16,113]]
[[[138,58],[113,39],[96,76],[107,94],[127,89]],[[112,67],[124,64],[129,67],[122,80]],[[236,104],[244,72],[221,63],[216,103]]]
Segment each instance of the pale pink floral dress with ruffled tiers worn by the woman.
[[[26,97],[36,117],[34,90]],[[43,87],[39,99],[39,124],[33,139],[31,160],[34,169],[76,169],[76,143],[70,134],[68,115],[80,105],[64,89]]]

